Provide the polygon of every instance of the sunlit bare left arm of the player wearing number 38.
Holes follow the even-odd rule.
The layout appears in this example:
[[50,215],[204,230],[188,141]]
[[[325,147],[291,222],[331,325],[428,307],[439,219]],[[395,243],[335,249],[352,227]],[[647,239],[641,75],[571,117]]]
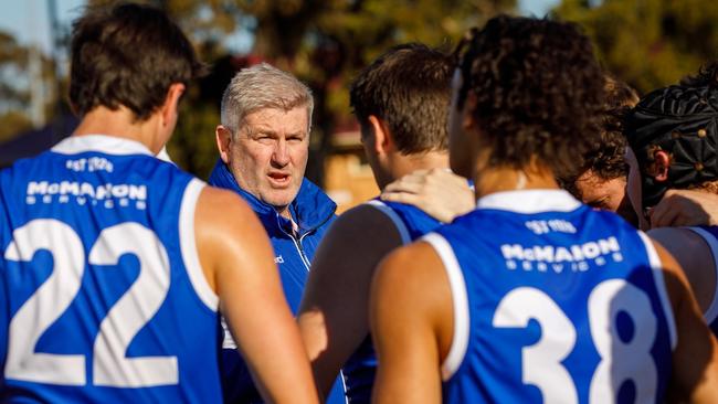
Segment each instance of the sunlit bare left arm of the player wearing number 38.
[[379,357],[372,401],[441,403],[453,308],[443,264],[429,244],[402,247],[380,264],[370,321]]

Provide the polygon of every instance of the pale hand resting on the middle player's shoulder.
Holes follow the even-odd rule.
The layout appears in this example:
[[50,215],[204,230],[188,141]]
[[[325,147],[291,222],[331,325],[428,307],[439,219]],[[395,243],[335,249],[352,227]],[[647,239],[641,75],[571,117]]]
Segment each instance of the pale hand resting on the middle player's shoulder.
[[448,170],[416,170],[387,185],[381,199],[414,205],[443,223],[476,206],[465,178]]

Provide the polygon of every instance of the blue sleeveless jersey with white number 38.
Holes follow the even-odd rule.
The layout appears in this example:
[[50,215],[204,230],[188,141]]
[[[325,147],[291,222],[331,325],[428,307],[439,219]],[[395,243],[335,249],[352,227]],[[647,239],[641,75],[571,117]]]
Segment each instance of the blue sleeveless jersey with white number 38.
[[673,312],[653,245],[619,216],[500,192],[423,240],[452,288],[445,403],[663,402]]

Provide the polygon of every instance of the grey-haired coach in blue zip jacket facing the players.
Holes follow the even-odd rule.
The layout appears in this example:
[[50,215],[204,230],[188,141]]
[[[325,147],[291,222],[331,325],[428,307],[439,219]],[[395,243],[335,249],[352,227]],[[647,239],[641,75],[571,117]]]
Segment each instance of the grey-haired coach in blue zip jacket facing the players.
[[[264,224],[295,316],[309,263],[337,209],[304,178],[313,107],[312,92],[293,75],[266,63],[240,71],[222,96],[220,159],[209,179],[244,198]],[[232,337],[224,334],[224,402],[258,401]],[[337,379],[327,403],[345,403],[341,386]]]

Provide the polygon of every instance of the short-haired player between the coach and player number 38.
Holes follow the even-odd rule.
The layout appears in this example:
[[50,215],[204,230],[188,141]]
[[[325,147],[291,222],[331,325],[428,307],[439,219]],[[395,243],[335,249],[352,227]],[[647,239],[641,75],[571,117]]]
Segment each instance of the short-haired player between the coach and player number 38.
[[[450,79],[446,54],[404,44],[379,56],[353,81],[350,102],[380,189],[416,170],[436,170],[446,181],[458,181],[457,192],[471,194],[465,179],[444,172]],[[344,213],[329,228],[313,262],[298,319],[320,390],[344,365],[349,401],[369,403],[377,365],[367,322],[374,267],[391,249],[439,225],[414,206],[374,199]]]

